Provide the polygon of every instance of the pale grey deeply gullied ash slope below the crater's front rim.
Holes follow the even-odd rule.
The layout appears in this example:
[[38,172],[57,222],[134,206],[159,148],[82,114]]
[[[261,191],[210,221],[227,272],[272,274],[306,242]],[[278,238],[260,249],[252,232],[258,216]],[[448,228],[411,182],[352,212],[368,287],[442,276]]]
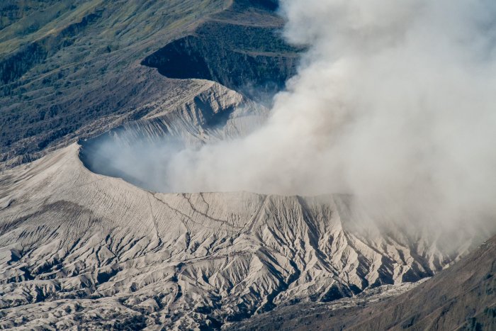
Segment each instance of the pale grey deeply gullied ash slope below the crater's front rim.
[[349,196],[152,193],[78,152],[0,177],[1,327],[220,327],[417,281],[471,245],[362,223]]

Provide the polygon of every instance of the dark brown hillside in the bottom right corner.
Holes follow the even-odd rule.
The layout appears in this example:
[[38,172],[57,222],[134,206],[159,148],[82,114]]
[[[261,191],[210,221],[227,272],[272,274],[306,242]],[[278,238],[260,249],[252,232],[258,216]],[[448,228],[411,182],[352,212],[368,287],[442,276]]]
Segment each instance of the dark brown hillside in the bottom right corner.
[[299,304],[258,315],[233,328],[495,330],[495,273],[496,237],[492,237],[449,269],[396,298],[386,291],[329,304]]

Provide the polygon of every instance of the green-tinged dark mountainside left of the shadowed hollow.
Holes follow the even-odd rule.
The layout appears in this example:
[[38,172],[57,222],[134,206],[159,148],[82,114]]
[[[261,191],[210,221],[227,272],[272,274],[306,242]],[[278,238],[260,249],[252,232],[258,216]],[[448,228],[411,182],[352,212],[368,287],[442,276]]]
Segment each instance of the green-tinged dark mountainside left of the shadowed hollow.
[[33,1],[26,13],[13,6],[21,13],[2,11],[11,21],[0,30],[0,162],[28,161],[156,99],[175,83],[142,68],[142,58],[229,4]]

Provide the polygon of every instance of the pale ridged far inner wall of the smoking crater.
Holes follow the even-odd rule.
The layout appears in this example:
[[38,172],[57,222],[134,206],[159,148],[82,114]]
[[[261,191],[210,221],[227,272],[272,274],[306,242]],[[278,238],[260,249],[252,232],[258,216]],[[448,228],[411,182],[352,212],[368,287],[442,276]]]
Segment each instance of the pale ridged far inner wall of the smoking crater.
[[191,82],[196,84],[190,83],[183,94],[167,94],[150,103],[141,118],[84,140],[85,149],[109,139],[125,146],[137,140],[153,143],[174,138],[195,147],[247,135],[268,116],[268,108],[225,86],[199,79]]

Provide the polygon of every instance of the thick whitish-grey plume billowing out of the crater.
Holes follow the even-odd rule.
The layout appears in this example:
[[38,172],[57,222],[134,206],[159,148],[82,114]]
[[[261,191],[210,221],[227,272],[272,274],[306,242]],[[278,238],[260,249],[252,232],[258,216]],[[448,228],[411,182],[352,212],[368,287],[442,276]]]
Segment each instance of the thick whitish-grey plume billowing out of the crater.
[[494,223],[496,2],[284,0],[310,45],[247,137],[181,150],[169,191],[353,193],[423,220]]

